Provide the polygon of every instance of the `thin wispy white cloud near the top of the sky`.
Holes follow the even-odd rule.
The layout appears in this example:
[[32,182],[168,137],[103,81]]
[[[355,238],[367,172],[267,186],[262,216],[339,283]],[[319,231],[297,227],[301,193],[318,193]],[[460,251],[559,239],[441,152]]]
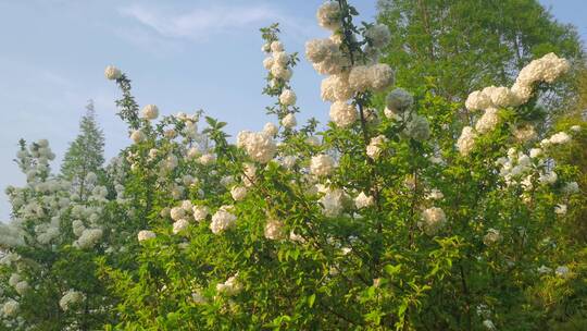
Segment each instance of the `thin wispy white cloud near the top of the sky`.
[[275,21],[280,16],[276,10],[265,4],[207,5],[185,12],[134,4],[120,8],[118,12],[124,16],[135,19],[161,37],[189,39],[202,39],[212,34],[238,30],[241,27]]

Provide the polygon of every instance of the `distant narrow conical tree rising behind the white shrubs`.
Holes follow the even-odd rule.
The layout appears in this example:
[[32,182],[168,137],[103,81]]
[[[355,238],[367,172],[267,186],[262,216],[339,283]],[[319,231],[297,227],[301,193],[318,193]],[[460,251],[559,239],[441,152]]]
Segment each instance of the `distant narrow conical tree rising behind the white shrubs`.
[[[63,158],[61,174],[72,182],[79,198],[83,199],[86,192],[89,173],[100,174],[104,163],[104,135],[96,123],[93,101],[89,100],[86,113],[79,122],[79,134]],[[89,179],[91,180],[91,179]]]

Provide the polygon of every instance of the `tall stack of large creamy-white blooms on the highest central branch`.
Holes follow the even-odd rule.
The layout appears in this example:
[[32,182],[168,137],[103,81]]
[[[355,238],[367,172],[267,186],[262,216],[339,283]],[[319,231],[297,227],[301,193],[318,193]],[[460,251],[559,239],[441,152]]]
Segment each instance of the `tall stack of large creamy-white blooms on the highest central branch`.
[[336,1],[325,2],[316,16],[322,27],[335,34],[326,39],[308,41],[305,57],[320,74],[328,75],[322,81],[321,95],[323,100],[333,102],[330,120],[340,127],[348,127],[358,119],[355,107],[348,102],[355,93],[367,89],[385,90],[394,84],[395,73],[391,68],[376,63],[379,49],[389,42],[390,33],[383,24],[367,29],[365,38],[369,45],[365,46],[364,52],[374,56],[366,62],[361,62],[359,57],[354,57],[355,63],[352,63],[350,54],[345,54],[340,50],[342,40],[339,30],[341,27],[339,4]]

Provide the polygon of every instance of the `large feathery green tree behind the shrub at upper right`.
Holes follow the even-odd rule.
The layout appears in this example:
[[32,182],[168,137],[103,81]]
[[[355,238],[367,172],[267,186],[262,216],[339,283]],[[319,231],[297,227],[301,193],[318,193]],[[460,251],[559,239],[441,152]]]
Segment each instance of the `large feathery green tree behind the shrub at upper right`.
[[[509,86],[530,60],[549,52],[584,58],[576,28],[557,22],[536,0],[379,0],[378,20],[392,34],[384,62],[398,85],[429,81],[451,101],[489,85]],[[576,94],[574,75],[544,87],[540,103],[552,112]]]

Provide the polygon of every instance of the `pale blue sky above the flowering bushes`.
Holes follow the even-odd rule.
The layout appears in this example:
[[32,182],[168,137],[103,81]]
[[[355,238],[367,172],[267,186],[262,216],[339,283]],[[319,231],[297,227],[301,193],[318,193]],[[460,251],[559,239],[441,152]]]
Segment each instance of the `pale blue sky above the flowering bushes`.
[[[578,26],[585,0],[541,0],[563,23]],[[128,144],[115,117],[118,90],[103,77],[114,64],[134,82],[139,105],[162,113],[203,109],[227,121],[232,134],[260,130],[270,120],[260,94],[264,69],[258,28],[279,22],[288,51],[303,52],[309,38],[325,36],[314,14],[322,0],[0,0],[0,187],[22,185],[12,161],[17,140],[48,138],[62,156],[77,134],[79,117],[93,99],[110,158]],[[362,20],[375,15],[375,0],[352,3]],[[303,57],[302,57],[303,58]],[[292,85],[302,113],[323,122],[321,77],[304,60]],[[60,159],[53,163],[59,168]],[[0,220],[9,219],[0,194]]]

